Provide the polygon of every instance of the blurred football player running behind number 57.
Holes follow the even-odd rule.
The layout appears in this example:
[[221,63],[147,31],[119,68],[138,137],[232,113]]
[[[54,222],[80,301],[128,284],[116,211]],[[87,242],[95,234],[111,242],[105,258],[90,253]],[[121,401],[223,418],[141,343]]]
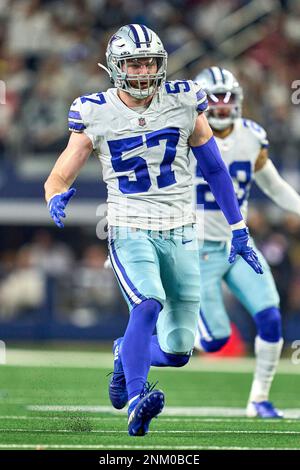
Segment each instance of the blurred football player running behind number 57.
[[[243,217],[247,218],[250,187],[254,180],[278,206],[300,215],[300,197],[278,174],[268,158],[265,130],[241,116],[243,92],[236,78],[220,67],[204,69],[196,82],[208,96],[208,122],[232,177]],[[264,273],[257,277],[237,259],[228,265],[230,230],[218,202],[203,178],[195,172],[197,204],[204,205],[204,242],[200,248],[201,310],[195,347],[207,352],[221,349],[230,337],[230,322],[223,303],[221,283],[252,315],[256,327],[256,370],[247,416],[280,418],[269,392],[283,345],[279,296],[270,268],[258,252]]]

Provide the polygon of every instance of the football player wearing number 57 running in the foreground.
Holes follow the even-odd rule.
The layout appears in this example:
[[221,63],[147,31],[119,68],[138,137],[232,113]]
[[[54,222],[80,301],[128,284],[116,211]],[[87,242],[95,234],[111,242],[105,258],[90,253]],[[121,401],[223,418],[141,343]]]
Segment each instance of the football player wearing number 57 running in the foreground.
[[147,383],[150,366],[186,364],[197,329],[190,148],[233,230],[232,258],[241,254],[258,273],[261,266],[203,114],[206,94],[192,81],[165,82],[167,53],[144,25],[120,28],[106,58],[114,88],[73,102],[72,134],[45,191],[50,214],[63,227],[75,193],[69,188],[95,151],[108,189],[110,260],[130,309],[124,337],[114,342],[109,394],[115,408],[129,400],[128,432],[142,436],[164,406],[163,392]]

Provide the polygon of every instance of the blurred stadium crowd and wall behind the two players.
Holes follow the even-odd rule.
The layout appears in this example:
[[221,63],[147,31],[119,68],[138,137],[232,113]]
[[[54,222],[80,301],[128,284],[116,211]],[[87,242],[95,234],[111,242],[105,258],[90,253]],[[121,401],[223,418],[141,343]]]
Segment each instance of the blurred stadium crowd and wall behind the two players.
[[[262,124],[271,157],[300,191],[300,2],[289,0],[0,0],[0,338],[111,340],[127,308],[96,235],[105,202],[98,161],[76,182],[64,230],[51,221],[43,183],[68,139],[81,94],[110,86],[109,36],[144,23],[169,53],[169,79],[220,64],[237,74],[244,115]],[[300,338],[300,219],[257,188],[249,225],[281,295],[286,343]],[[252,320],[226,292],[228,312],[251,349]]]

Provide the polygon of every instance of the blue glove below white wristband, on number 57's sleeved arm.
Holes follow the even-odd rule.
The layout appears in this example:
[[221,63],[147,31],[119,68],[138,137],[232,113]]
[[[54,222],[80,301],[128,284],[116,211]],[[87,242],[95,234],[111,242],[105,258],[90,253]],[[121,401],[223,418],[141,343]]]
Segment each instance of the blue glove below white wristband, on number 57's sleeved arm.
[[241,255],[257,274],[263,274],[262,265],[257,254],[249,245],[249,230],[247,228],[232,231],[229,263],[234,263],[237,255]]

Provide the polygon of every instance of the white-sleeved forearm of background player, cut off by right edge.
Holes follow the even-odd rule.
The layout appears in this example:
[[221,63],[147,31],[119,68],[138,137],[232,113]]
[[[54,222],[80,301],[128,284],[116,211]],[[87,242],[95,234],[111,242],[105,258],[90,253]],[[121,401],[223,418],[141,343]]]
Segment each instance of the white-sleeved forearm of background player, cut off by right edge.
[[271,160],[255,173],[259,188],[282,209],[300,216],[300,196],[278,173]]

